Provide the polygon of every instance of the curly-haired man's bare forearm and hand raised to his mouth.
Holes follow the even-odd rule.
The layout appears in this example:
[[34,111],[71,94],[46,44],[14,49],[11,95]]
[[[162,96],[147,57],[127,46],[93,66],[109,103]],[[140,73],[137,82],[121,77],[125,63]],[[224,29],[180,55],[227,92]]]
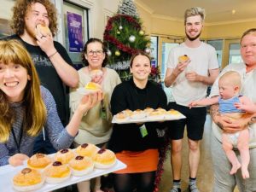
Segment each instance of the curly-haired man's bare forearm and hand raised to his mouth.
[[76,87],[79,83],[79,74],[76,69],[62,58],[57,49],[55,49],[53,38],[51,36],[38,38],[37,43],[44,53],[48,55],[49,60],[52,62],[63,83],[69,87]]

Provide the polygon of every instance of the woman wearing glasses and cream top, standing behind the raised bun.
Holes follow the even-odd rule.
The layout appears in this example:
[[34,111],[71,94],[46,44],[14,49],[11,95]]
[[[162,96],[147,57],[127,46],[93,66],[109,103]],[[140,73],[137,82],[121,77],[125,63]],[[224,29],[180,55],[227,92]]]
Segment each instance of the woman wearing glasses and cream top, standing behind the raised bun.
[[[104,99],[84,115],[79,125],[79,134],[74,139],[75,147],[83,143],[93,143],[102,148],[108,142],[112,132],[112,114],[110,113],[109,103],[113,88],[121,81],[118,73],[113,69],[105,67],[108,61],[106,51],[102,40],[98,38],[90,38],[84,44],[82,61],[84,61],[85,67],[79,70],[78,87],[72,89],[70,93],[71,115],[73,115],[81,97],[83,97],[77,89],[80,87],[84,88],[89,82],[102,86]],[[100,183],[100,177],[96,178],[96,184],[92,191],[101,192]],[[88,192],[90,191],[90,182],[79,183],[78,188],[79,192]]]

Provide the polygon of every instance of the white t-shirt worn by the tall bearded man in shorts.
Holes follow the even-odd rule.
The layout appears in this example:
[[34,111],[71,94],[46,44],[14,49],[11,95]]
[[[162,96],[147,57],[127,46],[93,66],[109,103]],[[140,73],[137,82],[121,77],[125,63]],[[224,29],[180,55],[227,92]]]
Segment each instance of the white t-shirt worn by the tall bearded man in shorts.
[[180,55],[188,55],[190,59],[187,69],[180,73],[172,84],[172,96],[170,102],[177,102],[179,105],[188,106],[189,102],[200,100],[207,96],[207,84],[201,82],[189,82],[185,78],[187,70],[208,76],[208,70],[218,68],[216,50],[210,45],[201,43],[197,48],[189,48],[186,44],[180,44],[171,49],[167,61],[167,67],[174,69]]

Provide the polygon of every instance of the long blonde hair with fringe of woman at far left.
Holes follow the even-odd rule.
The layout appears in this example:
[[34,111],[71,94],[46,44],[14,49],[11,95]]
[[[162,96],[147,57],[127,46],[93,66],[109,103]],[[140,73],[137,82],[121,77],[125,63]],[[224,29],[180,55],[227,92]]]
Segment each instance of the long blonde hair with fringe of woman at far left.
[[[27,81],[23,103],[25,108],[23,129],[29,136],[35,137],[42,130],[46,119],[46,108],[41,96],[40,81],[34,63],[26,49],[17,40],[0,41],[0,63],[10,62],[26,68],[30,80]],[[6,95],[0,90],[0,143],[9,140],[15,112],[10,108]]]

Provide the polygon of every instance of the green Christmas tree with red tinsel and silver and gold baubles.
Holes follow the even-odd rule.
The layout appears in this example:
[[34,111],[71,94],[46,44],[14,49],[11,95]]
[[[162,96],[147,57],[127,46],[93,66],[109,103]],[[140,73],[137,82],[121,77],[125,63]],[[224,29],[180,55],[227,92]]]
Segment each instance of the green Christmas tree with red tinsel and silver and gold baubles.
[[108,20],[104,42],[108,48],[109,67],[116,70],[122,80],[130,78],[132,54],[138,50],[150,54],[150,38],[142,28],[142,21],[132,0],[123,0],[117,15]]

